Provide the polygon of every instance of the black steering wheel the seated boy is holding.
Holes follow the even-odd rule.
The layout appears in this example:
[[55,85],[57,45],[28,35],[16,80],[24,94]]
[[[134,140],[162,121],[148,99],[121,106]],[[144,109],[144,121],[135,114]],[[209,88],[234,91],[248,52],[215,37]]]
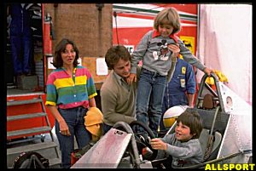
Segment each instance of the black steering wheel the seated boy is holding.
[[137,127],[136,127],[136,126],[139,126],[139,127],[143,128],[143,129],[147,132],[147,134],[148,134],[148,136],[150,137],[150,139],[154,139],[154,138],[155,138],[155,137],[154,137],[154,133],[153,133],[153,131],[152,131],[150,128],[148,128],[148,126],[145,125],[144,123],[141,123],[141,122],[138,122],[138,121],[133,121],[133,122],[130,123],[130,127],[131,127],[131,129],[133,130],[133,133],[134,133],[135,138],[136,138],[136,140],[137,140],[137,148],[138,148],[138,151],[142,153],[143,148],[144,148],[144,147],[148,147],[148,148],[153,152],[153,154],[152,154],[150,157],[147,157],[147,159],[148,159],[149,161],[152,161],[152,160],[154,160],[155,157],[157,156],[157,150],[154,150],[154,149],[151,147],[149,140],[141,140],[141,139],[140,139],[140,137],[139,137],[140,134],[137,134],[137,130],[136,130]]

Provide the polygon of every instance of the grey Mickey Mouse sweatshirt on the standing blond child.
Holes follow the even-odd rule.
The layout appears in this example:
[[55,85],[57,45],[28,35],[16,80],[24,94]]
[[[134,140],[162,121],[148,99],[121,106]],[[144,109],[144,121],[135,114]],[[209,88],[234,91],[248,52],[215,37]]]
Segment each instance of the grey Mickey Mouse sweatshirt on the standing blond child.
[[[171,53],[168,54],[169,58],[167,60],[161,60],[160,58],[155,60],[154,54],[160,53],[160,46],[162,40],[166,40],[166,43],[175,43],[171,37],[152,37],[153,31],[148,31],[140,43],[138,43],[136,50],[132,54],[131,58],[131,73],[136,73],[136,67],[140,60],[143,60],[143,68],[148,71],[158,72],[161,76],[166,76],[167,72],[172,66]],[[183,60],[187,61],[189,64],[197,67],[203,71],[206,66],[201,64],[201,61],[195,58],[195,56],[190,52],[183,41],[177,37],[177,43],[179,43],[180,54],[183,55]]]

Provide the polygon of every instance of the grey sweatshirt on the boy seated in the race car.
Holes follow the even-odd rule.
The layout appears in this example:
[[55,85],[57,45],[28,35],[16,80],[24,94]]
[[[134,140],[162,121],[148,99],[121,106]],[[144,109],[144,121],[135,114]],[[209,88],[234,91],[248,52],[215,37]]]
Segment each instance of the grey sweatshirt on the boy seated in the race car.
[[176,139],[175,133],[167,134],[162,138],[167,143],[166,153],[172,156],[172,168],[181,168],[201,163],[203,155],[198,139],[181,142]]

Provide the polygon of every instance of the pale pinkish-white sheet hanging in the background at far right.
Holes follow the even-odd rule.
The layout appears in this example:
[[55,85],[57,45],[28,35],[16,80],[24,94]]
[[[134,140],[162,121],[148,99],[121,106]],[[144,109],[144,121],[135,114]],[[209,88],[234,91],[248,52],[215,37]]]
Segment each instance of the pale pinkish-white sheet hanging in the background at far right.
[[[224,73],[227,86],[252,104],[251,4],[199,5],[199,44],[196,56],[209,68]],[[201,80],[203,72],[196,78]]]

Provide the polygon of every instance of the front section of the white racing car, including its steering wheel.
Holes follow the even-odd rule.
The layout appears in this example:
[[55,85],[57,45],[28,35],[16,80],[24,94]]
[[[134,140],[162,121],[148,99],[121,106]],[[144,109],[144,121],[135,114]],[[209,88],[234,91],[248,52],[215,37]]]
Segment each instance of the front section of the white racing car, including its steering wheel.
[[[148,136],[136,134],[137,127]],[[154,160],[157,151],[151,148],[150,139],[154,139],[154,133],[143,123],[115,123],[72,168],[152,168],[149,161]]]

